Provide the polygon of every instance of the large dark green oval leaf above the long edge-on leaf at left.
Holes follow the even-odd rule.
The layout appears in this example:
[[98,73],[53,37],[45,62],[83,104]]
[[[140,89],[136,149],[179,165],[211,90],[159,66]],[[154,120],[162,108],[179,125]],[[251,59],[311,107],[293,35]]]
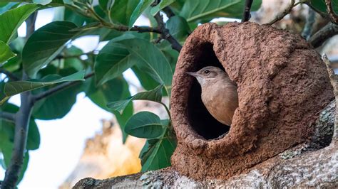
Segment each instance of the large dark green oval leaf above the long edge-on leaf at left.
[[36,77],[36,73],[43,66],[53,60],[64,45],[74,36],[74,23],[68,21],[54,21],[34,32],[24,46],[22,60],[24,70],[29,77]]

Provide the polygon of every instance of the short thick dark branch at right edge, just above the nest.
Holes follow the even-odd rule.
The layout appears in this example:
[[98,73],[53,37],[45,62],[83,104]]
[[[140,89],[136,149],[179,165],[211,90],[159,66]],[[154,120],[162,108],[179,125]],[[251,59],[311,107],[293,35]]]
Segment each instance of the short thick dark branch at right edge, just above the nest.
[[322,29],[317,31],[317,33],[314,33],[314,35],[311,36],[311,38],[309,38],[308,42],[314,48],[317,48],[320,45],[322,45],[322,43],[324,43],[324,41],[326,41],[328,38],[331,38],[332,36],[337,34],[338,34],[338,25],[330,22],[327,23],[327,25],[324,26]]

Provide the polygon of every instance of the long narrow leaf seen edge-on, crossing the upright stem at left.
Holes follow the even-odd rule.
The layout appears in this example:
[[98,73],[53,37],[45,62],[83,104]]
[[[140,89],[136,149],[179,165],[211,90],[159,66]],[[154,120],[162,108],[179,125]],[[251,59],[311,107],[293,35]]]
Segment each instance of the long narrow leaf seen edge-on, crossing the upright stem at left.
[[83,70],[80,72],[76,72],[72,75],[68,75],[67,77],[61,77],[59,75],[47,75],[46,77],[43,77],[41,80],[6,82],[4,87],[4,93],[7,97],[11,97],[21,92],[36,90],[40,87],[54,85],[59,82],[84,80],[84,74],[85,71]]

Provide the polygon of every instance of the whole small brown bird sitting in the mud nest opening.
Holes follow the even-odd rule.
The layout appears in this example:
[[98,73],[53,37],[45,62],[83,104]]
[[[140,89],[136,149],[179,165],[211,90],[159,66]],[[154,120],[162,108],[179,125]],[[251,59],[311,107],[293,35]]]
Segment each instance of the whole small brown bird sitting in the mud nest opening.
[[196,77],[202,87],[202,101],[208,112],[222,124],[231,125],[238,107],[237,85],[227,72],[214,66],[207,66],[197,72],[187,72]]

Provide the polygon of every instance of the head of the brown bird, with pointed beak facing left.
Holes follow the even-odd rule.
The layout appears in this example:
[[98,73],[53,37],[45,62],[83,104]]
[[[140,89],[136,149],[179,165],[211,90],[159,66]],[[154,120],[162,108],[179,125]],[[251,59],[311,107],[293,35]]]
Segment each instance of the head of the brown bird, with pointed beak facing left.
[[208,83],[212,84],[215,81],[217,81],[217,79],[228,77],[226,72],[215,66],[207,66],[205,68],[198,70],[197,72],[186,72],[186,73],[188,75],[196,77],[200,85]]

